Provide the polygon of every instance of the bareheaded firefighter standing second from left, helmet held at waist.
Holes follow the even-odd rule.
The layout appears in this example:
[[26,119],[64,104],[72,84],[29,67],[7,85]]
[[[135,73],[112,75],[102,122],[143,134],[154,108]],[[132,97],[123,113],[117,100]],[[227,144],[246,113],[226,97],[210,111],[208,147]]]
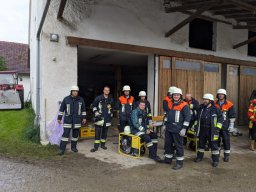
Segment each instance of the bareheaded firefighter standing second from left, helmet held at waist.
[[110,88],[105,86],[103,94],[96,97],[92,103],[95,124],[94,147],[91,152],[98,150],[99,146],[106,150],[108,128],[111,126],[113,117],[113,98],[109,96]]

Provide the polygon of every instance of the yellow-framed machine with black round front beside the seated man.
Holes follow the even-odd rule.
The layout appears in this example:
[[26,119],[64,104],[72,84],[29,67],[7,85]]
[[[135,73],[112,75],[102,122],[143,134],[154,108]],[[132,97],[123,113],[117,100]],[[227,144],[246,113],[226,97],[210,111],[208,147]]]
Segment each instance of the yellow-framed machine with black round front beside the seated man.
[[146,152],[145,142],[141,142],[139,136],[120,133],[118,152],[125,156],[140,158]]

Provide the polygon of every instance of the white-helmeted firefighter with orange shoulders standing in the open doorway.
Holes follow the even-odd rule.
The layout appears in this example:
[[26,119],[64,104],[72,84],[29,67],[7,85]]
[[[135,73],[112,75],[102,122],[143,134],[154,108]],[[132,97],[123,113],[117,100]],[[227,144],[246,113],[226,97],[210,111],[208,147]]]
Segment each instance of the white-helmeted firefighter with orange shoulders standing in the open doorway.
[[129,85],[123,87],[123,95],[117,101],[117,110],[119,113],[119,132],[124,131],[124,127],[129,125],[132,110],[135,108],[134,97],[130,95],[131,88]]

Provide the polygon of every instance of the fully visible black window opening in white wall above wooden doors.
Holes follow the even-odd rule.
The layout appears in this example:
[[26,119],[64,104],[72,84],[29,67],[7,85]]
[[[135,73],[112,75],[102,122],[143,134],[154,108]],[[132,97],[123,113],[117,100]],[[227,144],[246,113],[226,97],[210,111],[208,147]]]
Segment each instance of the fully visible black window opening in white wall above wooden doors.
[[194,19],[189,23],[189,47],[214,50],[213,22]]

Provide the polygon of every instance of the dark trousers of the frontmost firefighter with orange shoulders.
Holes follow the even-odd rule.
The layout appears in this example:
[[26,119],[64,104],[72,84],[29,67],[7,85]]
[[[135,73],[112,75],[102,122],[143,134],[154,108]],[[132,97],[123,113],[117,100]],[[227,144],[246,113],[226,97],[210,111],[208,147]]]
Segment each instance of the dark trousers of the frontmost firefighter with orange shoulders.
[[183,148],[183,137],[179,133],[171,133],[165,131],[165,159],[171,161],[174,154],[174,145],[176,148],[176,160],[184,160],[184,148]]

